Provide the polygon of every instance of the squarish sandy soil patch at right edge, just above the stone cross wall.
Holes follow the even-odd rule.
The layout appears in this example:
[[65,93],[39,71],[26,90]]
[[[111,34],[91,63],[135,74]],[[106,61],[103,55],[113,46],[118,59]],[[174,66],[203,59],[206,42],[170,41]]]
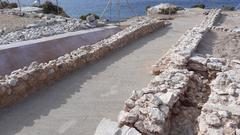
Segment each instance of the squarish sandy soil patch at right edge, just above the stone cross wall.
[[197,52],[215,57],[240,59],[240,34],[211,31],[200,43]]

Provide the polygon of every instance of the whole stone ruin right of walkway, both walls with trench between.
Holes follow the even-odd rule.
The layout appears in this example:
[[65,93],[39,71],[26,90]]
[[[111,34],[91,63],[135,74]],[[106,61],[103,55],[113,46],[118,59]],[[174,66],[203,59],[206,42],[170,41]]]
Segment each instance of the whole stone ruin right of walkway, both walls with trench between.
[[211,10],[153,66],[154,79],[126,100],[118,131],[240,135],[240,60],[196,51],[220,15],[220,10]]

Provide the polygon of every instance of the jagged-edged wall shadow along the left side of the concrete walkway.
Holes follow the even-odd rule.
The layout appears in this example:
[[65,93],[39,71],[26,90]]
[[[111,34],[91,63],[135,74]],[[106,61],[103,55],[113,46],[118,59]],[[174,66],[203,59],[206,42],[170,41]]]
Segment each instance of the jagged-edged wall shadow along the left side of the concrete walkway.
[[170,29],[172,29],[171,26],[162,28],[155,33],[130,43],[105,56],[103,59],[89,64],[79,71],[71,73],[62,80],[55,82],[54,85],[40,89],[17,105],[1,109],[0,134],[14,135],[20,132],[24,127],[33,126],[35,120],[43,116],[48,116],[51,110],[61,108],[61,106],[66,104],[67,100],[76,93],[81,94],[82,85],[87,80],[90,80],[93,76],[97,76],[99,73],[106,70],[108,66],[143,47],[149,41],[163,36]]

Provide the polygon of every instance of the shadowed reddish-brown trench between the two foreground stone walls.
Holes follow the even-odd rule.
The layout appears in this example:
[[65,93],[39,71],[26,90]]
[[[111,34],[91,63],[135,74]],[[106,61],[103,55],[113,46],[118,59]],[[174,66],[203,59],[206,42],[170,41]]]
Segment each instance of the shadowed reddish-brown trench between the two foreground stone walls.
[[186,93],[174,106],[170,135],[196,135],[198,132],[197,118],[210,94],[209,80],[195,72],[188,85]]

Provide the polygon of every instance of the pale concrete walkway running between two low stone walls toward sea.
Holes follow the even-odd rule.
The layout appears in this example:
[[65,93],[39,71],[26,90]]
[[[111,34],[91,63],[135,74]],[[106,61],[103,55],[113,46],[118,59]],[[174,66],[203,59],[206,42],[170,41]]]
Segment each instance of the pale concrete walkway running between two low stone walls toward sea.
[[103,117],[117,120],[131,91],[151,80],[151,65],[200,21],[198,16],[173,20],[173,25],[1,110],[0,134],[93,135]]

